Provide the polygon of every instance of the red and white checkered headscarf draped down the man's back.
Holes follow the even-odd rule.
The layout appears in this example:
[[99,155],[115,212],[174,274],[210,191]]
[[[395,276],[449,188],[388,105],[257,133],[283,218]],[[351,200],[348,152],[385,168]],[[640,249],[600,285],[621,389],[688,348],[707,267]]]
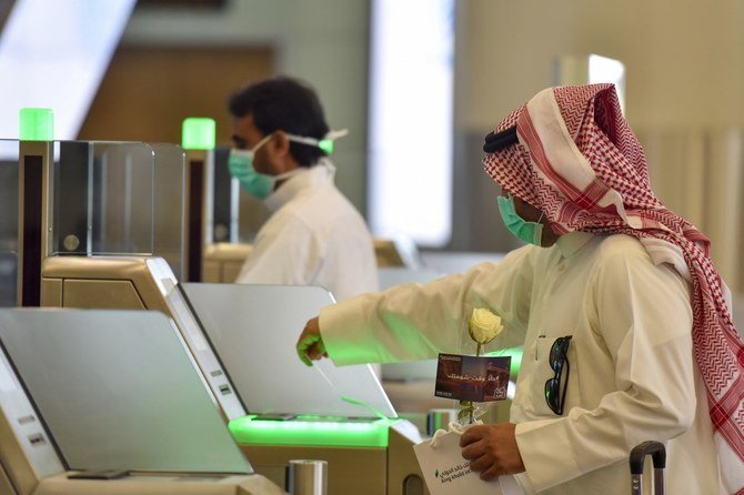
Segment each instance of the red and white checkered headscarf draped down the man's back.
[[[655,263],[693,286],[694,354],[707,390],[726,489],[744,494],[744,344],[710,241],[651,190],[643,148],[622,115],[613,84],[551,88],[504,119],[519,144],[483,160],[485,171],[545,213],[556,233],[624,233]],[[727,478],[727,479],[726,479]]]

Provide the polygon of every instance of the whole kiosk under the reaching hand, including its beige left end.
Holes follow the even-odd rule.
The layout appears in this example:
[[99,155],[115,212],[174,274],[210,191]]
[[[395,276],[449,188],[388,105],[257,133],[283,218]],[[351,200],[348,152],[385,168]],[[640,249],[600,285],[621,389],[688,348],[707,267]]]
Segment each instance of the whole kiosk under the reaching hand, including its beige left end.
[[304,323],[333,303],[328,291],[179,284],[158,257],[52,256],[43,274],[44,303],[129,301],[170,315],[258,473],[281,484],[290,459],[318,458],[330,493],[426,493],[419,430],[396,417],[371,367],[305,367],[294,353]]

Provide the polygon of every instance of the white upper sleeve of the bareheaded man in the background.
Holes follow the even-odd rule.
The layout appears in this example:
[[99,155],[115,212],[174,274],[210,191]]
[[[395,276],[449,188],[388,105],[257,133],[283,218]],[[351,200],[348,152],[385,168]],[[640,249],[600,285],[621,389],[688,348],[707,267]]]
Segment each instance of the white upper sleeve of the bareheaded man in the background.
[[235,282],[305,285],[312,280],[321,259],[311,230],[295,216],[281,220],[261,231]]

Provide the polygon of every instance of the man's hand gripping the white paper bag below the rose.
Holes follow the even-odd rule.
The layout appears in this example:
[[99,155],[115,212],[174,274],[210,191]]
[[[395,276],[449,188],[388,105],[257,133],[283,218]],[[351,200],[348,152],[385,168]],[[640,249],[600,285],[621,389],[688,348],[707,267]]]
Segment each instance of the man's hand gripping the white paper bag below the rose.
[[462,456],[470,461],[471,471],[481,473],[481,479],[524,472],[515,428],[514,423],[475,425],[462,434]]

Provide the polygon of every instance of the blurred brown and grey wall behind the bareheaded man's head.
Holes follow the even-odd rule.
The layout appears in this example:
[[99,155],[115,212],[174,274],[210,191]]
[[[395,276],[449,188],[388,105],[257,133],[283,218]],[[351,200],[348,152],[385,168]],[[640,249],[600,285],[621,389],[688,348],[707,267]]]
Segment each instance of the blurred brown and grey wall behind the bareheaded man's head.
[[[119,112],[127,112],[129,130],[117,129],[125,133],[117,139],[148,141],[158,132],[159,140],[180,142],[183,118],[208,115],[217,120],[218,142],[228,144],[230,93],[272,74],[302,78],[318,90],[329,124],[350,130],[334,152],[343,163],[336,184],[363,211],[368,23],[366,0],[140,1],[102,84],[118,85],[117,97],[95,101],[92,110],[107,108],[99,130],[83,128],[81,138],[103,138],[107,122],[117,125]],[[127,69],[118,70],[118,63]],[[128,93],[147,104],[119,98]],[[134,123],[163,114],[170,124],[163,121],[159,129],[138,130]]]

